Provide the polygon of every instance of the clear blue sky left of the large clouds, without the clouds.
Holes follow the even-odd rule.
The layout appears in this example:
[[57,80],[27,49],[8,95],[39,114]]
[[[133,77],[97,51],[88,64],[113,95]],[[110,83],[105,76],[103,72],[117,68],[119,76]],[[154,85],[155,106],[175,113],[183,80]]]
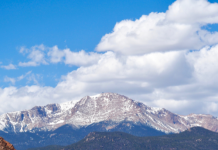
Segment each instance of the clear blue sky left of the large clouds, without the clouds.
[[[9,0],[0,5],[0,38],[2,65],[24,61],[19,53],[21,46],[30,48],[44,44],[52,47],[94,51],[101,37],[110,33],[116,22],[135,20],[142,14],[166,11],[173,0]],[[15,78],[32,71],[40,75],[41,85],[56,86],[61,75],[76,69],[64,64],[38,67],[19,67],[15,70],[1,69],[1,87],[11,85],[4,77]],[[34,82],[20,81],[16,86],[31,85]]]

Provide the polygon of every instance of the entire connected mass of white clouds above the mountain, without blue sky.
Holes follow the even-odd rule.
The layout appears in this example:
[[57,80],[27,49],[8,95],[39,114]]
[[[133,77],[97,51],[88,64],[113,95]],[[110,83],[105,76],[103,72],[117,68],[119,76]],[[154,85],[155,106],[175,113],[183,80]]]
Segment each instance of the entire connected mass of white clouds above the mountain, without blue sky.
[[178,114],[218,116],[218,33],[202,28],[218,23],[217,10],[217,3],[206,0],[177,0],[165,13],[123,20],[97,45],[102,54],[44,45],[21,48],[29,61],[20,66],[79,68],[56,87],[0,88],[0,113],[116,92]]

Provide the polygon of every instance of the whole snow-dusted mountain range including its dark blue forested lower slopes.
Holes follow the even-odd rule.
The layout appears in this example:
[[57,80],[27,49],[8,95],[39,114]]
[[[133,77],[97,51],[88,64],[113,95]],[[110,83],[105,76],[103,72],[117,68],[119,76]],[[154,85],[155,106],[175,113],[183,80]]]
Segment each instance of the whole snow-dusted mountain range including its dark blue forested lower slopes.
[[[196,126],[217,132],[218,119],[205,114],[174,114],[116,93],[85,96],[78,101],[36,106],[0,116],[0,136],[22,150],[52,143],[69,145],[93,131],[157,136]],[[69,138],[63,142],[61,137]]]

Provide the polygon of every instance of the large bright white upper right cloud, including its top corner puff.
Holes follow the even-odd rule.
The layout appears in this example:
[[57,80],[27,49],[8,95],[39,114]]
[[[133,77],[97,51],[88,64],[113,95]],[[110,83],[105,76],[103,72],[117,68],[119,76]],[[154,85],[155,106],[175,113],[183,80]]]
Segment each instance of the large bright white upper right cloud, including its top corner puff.
[[117,23],[102,37],[97,51],[133,55],[152,52],[198,50],[218,43],[218,32],[202,29],[218,23],[218,4],[207,0],[177,0],[166,13],[150,13],[135,21]]

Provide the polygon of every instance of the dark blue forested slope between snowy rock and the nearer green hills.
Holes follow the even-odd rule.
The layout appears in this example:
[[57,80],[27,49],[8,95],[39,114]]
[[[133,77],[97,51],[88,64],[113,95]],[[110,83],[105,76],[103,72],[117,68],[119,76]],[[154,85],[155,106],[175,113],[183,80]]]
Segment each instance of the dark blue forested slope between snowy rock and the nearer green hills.
[[0,136],[14,145],[16,150],[26,150],[27,148],[43,147],[47,145],[70,145],[82,140],[90,132],[114,132],[121,131],[135,136],[159,136],[164,132],[143,125],[135,125],[132,122],[121,122],[115,128],[106,130],[105,126],[111,126],[114,122],[94,123],[86,127],[75,129],[70,125],[64,125],[52,131],[33,132],[10,132],[0,131]]

